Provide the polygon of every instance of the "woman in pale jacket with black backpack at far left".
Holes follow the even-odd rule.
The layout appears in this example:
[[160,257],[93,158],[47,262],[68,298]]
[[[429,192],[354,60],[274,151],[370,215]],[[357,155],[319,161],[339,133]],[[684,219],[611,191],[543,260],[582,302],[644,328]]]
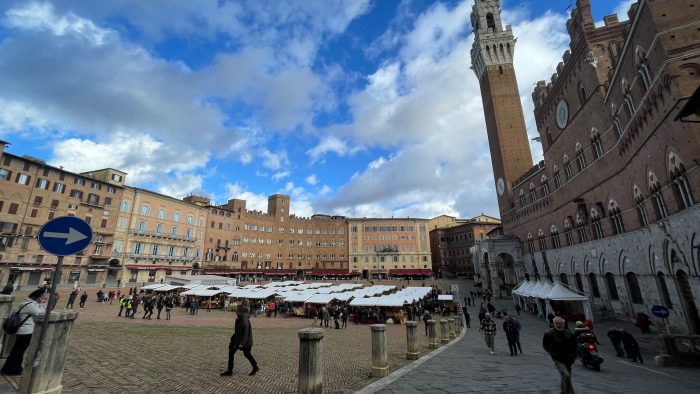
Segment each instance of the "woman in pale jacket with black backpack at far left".
[[22,319],[22,326],[20,326],[17,333],[14,334],[15,343],[12,346],[12,350],[10,350],[10,355],[7,357],[7,360],[5,360],[5,364],[2,366],[2,369],[0,369],[0,374],[22,374],[24,353],[29,347],[29,343],[32,340],[32,333],[34,332],[34,317],[45,312],[40,305],[46,302],[47,296],[47,289],[44,287],[39,288],[29,293],[27,299],[17,308],[17,314],[19,318]]

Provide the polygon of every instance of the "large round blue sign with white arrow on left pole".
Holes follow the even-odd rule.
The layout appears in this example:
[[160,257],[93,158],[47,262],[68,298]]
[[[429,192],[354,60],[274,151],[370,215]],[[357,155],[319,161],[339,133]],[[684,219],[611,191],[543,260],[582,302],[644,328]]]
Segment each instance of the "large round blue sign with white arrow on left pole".
[[62,216],[39,229],[39,245],[56,256],[68,256],[85,249],[92,241],[90,225],[74,216]]

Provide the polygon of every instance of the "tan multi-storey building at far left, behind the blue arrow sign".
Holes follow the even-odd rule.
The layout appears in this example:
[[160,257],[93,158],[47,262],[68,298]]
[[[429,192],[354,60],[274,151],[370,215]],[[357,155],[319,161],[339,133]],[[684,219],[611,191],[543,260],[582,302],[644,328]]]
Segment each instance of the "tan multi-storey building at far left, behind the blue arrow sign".
[[93,238],[81,253],[64,258],[59,284],[105,282],[114,275],[109,259],[126,174],[111,168],[73,173],[13,155],[8,145],[0,141],[0,282],[41,285],[52,278],[57,257],[41,249],[37,234],[61,216],[88,222]]

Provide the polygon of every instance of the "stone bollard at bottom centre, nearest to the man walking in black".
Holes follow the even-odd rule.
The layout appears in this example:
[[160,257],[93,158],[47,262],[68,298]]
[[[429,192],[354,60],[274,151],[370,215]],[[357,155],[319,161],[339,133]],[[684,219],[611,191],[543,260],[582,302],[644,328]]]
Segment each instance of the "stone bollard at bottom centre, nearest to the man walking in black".
[[299,330],[299,379],[297,393],[323,392],[323,329]]

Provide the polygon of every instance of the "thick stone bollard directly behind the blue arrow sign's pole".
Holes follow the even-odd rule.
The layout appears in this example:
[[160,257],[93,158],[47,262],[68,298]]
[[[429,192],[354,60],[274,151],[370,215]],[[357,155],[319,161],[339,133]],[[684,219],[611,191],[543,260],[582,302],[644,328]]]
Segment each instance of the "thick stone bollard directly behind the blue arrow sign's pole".
[[[32,368],[45,317],[45,315],[34,317],[32,341],[29,343],[22,364],[24,372],[19,384],[19,391],[22,393],[60,393],[63,390],[61,383],[63,368],[68,356],[71,330],[75,319],[78,318],[78,312],[68,309],[51,311],[49,326],[44,335],[44,343],[39,355],[39,365]],[[32,387],[29,387],[32,374],[34,374],[34,380]]]

